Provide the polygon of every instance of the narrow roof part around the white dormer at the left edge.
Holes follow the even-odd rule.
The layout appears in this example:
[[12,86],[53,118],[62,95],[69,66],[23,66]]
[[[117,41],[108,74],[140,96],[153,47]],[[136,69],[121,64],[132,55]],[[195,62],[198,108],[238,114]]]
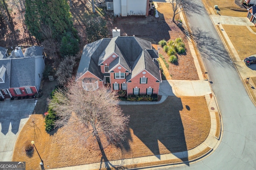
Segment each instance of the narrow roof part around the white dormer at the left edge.
[[0,89],[10,88],[10,70],[11,70],[11,60],[2,59],[0,60],[0,67],[4,66],[6,68],[4,83],[0,83]]

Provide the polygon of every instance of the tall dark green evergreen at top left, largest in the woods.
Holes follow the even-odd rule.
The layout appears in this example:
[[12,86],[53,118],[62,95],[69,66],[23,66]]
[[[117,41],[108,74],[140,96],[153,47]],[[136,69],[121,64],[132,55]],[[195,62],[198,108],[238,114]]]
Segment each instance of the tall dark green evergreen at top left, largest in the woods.
[[66,31],[72,31],[72,16],[66,0],[26,0],[25,21],[28,30],[39,41],[42,27],[49,27],[56,39]]

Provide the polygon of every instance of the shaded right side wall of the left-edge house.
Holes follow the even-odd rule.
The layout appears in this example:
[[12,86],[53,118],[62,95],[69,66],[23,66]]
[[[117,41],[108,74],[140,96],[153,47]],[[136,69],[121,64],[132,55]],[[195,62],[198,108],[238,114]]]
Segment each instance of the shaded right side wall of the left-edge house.
[[[43,77],[43,72],[44,72],[44,59],[43,57],[36,57],[35,58],[35,65],[36,65],[36,70],[35,70],[35,73],[36,73],[36,89],[39,90],[40,88],[40,83],[41,83],[41,80],[42,80],[42,77]],[[41,76],[41,78],[39,77],[39,75]]]

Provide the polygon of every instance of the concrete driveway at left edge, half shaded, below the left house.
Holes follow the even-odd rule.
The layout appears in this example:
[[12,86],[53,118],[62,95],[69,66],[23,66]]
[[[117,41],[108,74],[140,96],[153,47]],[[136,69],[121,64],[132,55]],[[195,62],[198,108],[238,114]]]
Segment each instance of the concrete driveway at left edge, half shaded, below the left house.
[[0,161],[11,161],[16,139],[33,113],[36,99],[0,102]]

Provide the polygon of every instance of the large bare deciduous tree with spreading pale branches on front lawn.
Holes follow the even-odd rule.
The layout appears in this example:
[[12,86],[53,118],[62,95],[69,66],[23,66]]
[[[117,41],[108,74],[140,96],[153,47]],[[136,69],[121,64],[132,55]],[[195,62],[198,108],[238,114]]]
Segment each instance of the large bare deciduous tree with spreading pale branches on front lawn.
[[[85,83],[90,86],[96,82]],[[109,92],[108,88],[99,87],[94,91],[86,91],[82,82],[75,82],[74,79],[66,88],[54,93],[54,100],[48,99],[49,107],[53,108],[60,118],[56,121],[56,126],[66,125],[71,119],[76,119],[81,125],[80,128],[86,128],[87,133],[91,132],[96,137],[104,160],[107,158],[100,135],[104,135],[108,142],[114,145],[120,144],[126,137],[129,116],[122,113],[118,102],[117,94]],[[84,132],[84,129],[81,129],[81,132]]]

